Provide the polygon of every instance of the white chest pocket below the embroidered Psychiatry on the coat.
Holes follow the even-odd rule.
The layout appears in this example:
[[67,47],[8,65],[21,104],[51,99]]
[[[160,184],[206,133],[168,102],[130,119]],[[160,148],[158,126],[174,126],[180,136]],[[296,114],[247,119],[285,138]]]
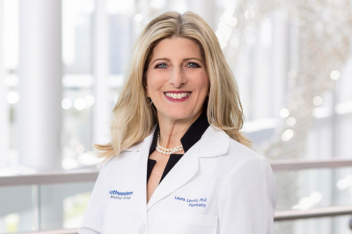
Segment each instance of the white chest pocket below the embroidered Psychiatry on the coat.
[[217,216],[159,210],[156,214],[155,234],[215,234]]

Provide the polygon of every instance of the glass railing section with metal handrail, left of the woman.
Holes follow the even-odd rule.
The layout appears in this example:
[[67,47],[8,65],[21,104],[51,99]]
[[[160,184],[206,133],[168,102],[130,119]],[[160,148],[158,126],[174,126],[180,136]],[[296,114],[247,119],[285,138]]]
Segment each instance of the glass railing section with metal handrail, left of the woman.
[[0,233],[77,233],[97,174],[87,169],[0,177]]

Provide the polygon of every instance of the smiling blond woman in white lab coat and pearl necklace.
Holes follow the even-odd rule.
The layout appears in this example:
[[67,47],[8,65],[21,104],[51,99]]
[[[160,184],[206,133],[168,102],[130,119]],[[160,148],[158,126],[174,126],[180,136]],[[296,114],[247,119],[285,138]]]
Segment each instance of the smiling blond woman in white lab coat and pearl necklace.
[[79,233],[273,233],[275,177],[240,132],[237,85],[209,25],[166,12],[129,64]]

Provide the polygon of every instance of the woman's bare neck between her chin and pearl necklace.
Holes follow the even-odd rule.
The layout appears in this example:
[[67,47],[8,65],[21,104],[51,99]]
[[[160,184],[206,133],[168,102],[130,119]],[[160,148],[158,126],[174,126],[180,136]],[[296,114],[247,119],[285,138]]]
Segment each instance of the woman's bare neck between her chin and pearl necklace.
[[191,116],[188,119],[172,120],[164,118],[158,113],[160,145],[165,148],[173,148],[181,145],[181,138],[187,132],[189,127],[199,117],[202,112]]

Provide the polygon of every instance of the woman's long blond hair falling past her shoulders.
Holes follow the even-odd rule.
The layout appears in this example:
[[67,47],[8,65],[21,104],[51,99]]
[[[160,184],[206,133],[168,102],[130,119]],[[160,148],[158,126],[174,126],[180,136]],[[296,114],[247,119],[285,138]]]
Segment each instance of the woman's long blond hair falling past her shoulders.
[[206,61],[210,94],[205,101],[205,109],[209,124],[251,147],[252,141],[240,132],[244,115],[237,83],[211,27],[193,12],[180,14],[168,11],[150,21],[135,42],[128,63],[127,80],[112,110],[111,142],[93,143],[95,155],[105,158],[103,163],[141,142],[157,124],[156,108],[149,106],[146,99],[146,73],[154,47],[161,40],[172,38],[195,41]]

